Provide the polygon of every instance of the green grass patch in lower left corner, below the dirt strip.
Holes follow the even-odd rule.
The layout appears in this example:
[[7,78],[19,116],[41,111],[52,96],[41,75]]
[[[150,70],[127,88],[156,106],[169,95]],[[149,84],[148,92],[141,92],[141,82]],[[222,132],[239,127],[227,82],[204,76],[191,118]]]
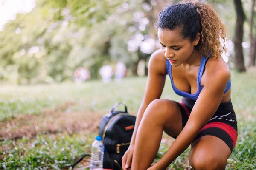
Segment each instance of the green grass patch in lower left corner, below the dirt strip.
[[[0,154],[6,156],[0,164],[3,170],[26,168],[27,170],[46,170],[70,167],[77,156],[88,153],[87,148],[93,142],[95,134],[90,134],[85,138],[77,138],[76,135],[48,136],[38,135],[29,142],[28,138],[23,138],[16,142],[4,140],[1,144],[8,146]],[[21,157],[20,157],[21,156]]]

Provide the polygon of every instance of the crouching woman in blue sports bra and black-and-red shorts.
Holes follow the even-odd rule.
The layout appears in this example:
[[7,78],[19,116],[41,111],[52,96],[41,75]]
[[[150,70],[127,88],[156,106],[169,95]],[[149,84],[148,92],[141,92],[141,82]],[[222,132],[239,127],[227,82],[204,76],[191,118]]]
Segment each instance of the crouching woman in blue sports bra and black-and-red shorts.
[[[225,169],[237,139],[231,75],[219,48],[219,38],[225,42],[226,34],[225,25],[207,4],[176,4],[160,12],[162,48],[149,61],[145,96],[122,158],[124,170],[165,170],[190,144],[193,169]],[[160,99],[167,74],[174,91],[183,96],[179,103]],[[176,139],[150,167],[163,131]]]

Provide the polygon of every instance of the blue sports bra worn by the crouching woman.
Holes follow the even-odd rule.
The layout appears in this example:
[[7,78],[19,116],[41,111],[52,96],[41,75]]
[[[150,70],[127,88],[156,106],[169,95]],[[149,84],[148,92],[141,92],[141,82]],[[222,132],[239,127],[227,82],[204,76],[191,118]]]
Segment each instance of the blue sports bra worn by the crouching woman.
[[[199,66],[199,70],[198,70],[198,76],[197,76],[197,87],[198,87],[198,89],[197,89],[195,94],[190,94],[190,93],[186,93],[184,91],[180,91],[179,89],[177,89],[175,87],[175,85],[173,83],[173,79],[172,79],[172,65],[169,62],[169,60],[166,58],[166,73],[169,74],[169,77],[170,77],[171,82],[172,82],[172,88],[173,88],[173,90],[175,91],[175,93],[177,95],[180,95],[180,96],[192,99],[192,100],[196,100],[198,98],[200,92],[203,89],[203,86],[201,85],[201,78],[202,78],[202,75],[203,75],[203,72],[204,72],[204,67],[205,67],[206,62],[208,61],[208,59],[209,59],[209,57],[202,57],[201,63],[200,63],[200,66]],[[230,87],[231,87],[231,79],[227,82],[227,86],[226,86],[226,89],[224,91],[224,94],[227,93],[227,91],[230,89]]]

